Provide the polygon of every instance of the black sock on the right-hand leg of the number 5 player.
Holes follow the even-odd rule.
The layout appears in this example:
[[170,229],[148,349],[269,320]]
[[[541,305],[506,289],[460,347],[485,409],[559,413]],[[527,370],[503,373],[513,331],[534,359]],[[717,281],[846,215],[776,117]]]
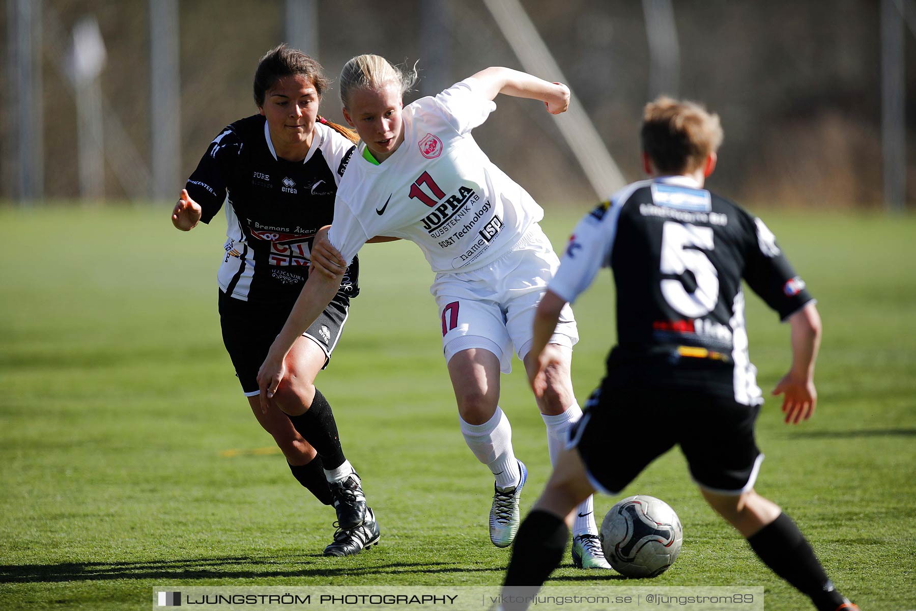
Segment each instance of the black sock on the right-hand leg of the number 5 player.
[[747,542],[773,573],[810,596],[818,609],[835,611],[844,603],[802,531],[786,514],[780,513],[779,518],[748,537]]

